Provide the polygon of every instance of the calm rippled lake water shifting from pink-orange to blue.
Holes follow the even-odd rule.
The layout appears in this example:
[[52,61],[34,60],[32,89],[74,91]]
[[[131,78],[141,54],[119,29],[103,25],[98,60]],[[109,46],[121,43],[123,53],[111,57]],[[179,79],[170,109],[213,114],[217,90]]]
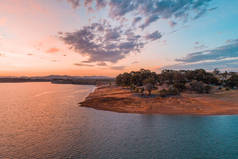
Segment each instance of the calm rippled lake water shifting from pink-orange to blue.
[[79,107],[93,89],[0,84],[0,158],[238,158],[238,116],[120,114]]

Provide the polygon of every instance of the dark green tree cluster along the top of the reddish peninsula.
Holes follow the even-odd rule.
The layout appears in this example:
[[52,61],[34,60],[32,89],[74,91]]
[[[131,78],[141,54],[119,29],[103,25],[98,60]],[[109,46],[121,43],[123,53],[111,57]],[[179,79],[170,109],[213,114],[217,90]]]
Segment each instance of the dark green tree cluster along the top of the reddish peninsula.
[[[213,72],[207,72],[204,69],[163,70],[160,74],[141,69],[118,75],[116,84],[130,87],[132,90],[141,90],[138,92],[143,92],[144,89],[147,89],[149,94],[151,94],[151,90],[156,85],[163,84],[168,85],[169,89],[162,90],[162,95],[177,95],[184,90],[209,93],[212,86],[222,86],[227,89],[238,87],[238,75],[228,72],[221,73],[218,69]],[[143,89],[141,86],[143,86]]]

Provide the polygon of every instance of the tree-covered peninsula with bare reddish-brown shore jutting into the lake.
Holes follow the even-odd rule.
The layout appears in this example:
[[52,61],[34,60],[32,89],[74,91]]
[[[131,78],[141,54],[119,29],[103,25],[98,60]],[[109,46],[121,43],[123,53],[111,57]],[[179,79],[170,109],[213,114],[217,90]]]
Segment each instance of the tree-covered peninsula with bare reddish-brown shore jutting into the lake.
[[[184,71],[167,70],[157,75],[149,70],[140,70],[124,75],[121,74],[116,78],[116,85],[98,87],[80,105],[82,107],[122,113],[171,115],[238,114],[238,80],[236,74],[227,73],[224,75],[226,79],[221,79],[219,77],[223,76],[222,73],[208,73],[204,70],[182,72]],[[143,76],[142,74],[144,73],[150,76],[150,80],[148,78],[143,79],[145,81],[144,86],[134,86],[131,82],[133,81],[133,76],[130,75],[138,75],[135,78],[138,80],[139,76]],[[191,73],[193,74],[191,76],[193,79],[189,79],[189,74]],[[199,80],[200,75],[198,74],[204,79],[206,78],[206,80],[202,78]],[[157,78],[154,79],[156,81],[154,83],[151,78],[153,75],[155,75],[154,78]],[[122,81],[127,81],[125,76],[130,78],[130,85],[120,84]],[[124,79],[122,80],[122,78]],[[170,80],[168,80],[169,78]],[[196,81],[195,78],[197,79]],[[150,81],[151,89],[146,81]]]

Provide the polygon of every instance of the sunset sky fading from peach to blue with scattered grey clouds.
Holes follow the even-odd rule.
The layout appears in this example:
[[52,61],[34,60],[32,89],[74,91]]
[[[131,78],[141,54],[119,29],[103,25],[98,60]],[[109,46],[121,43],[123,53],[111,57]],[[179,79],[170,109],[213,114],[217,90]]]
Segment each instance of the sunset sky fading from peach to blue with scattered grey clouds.
[[0,0],[0,76],[238,71],[237,0]]

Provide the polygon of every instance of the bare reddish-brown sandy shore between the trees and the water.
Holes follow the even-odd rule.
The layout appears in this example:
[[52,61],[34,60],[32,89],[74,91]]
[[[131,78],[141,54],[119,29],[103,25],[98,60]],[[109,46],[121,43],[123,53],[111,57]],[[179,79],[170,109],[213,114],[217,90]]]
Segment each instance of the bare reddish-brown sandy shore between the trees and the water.
[[140,97],[121,87],[101,87],[80,105],[123,113],[230,115],[238,114],[238,90],[148,98]]

